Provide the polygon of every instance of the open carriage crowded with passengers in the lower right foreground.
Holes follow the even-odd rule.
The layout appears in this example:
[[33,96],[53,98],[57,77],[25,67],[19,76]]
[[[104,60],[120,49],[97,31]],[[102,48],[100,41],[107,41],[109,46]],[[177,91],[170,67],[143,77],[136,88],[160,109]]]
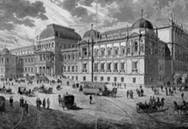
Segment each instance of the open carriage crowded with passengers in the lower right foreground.
[[168,108],[164,108],[164,98],[161,101],[156,102],[139,102],[136,103],[136,110],[138,113],[154,113],[154,112],[163,112],[168,110]]

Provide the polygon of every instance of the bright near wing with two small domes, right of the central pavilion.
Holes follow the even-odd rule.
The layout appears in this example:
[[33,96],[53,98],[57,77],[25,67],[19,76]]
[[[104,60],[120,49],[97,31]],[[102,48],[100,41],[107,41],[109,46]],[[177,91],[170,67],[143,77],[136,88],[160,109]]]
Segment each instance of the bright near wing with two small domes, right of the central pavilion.
[[[104,33],[91,29],[84,34],[77,50],[71,51],[63,50],[62,55],[64,74],[72,79],[91,81],[93,71],[94,81],[119,85],[161,84],[170,80],[168,45],[159,39],[152,23],[143,18],[129,28]],[[73,56],[78,58],[73,60]]]

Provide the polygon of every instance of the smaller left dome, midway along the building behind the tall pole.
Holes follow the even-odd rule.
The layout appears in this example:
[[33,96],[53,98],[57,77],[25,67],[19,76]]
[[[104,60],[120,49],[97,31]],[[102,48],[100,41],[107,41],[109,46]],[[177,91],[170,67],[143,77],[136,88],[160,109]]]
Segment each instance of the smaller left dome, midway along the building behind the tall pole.
[[100,33],[94,29],[91,29],[87,32],[84,33],[83,39],[91,39],[93,37],[94,39],[99,39],[100,38]]

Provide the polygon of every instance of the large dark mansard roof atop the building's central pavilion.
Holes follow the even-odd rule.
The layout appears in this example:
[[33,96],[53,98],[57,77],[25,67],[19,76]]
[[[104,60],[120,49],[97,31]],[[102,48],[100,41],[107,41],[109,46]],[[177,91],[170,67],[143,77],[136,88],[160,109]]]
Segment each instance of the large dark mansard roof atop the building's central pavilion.
[[74,29],[60,26],[56,24],[48,25],[39,35],[39,39],[46,39],[49,37],[58,36],[61,38],[81,40],[81,37]]

